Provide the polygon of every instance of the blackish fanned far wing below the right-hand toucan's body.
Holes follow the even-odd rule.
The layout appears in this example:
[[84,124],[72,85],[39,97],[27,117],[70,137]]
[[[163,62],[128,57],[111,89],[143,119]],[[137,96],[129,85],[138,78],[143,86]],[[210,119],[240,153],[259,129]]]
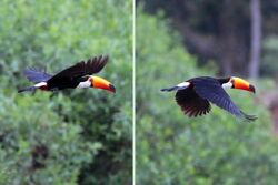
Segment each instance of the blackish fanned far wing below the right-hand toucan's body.
[[176,101],[188,116],[203,115],[211,109],[209,101],[200,97],[191,88],[179,90],[176,93]]

